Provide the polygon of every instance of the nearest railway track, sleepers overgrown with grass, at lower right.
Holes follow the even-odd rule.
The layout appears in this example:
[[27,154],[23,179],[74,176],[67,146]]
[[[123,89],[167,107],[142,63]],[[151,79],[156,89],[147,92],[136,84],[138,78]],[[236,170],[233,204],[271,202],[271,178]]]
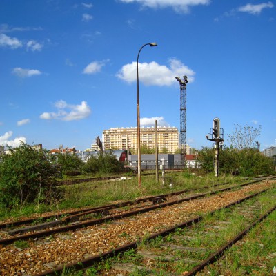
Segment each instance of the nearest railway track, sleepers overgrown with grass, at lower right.
[[[255,202],[253,201],[253,204],[248,204],[250,199],[258,197],[263,192],[249,195],[220,209],[211,211],[210,215],[215,217],[215,219],[208,219],[207,224],[203,216],[198,216],[149,235],[146,238],[139,239],[138,242],[130,242],[114,250],[83,259],[81,262],[75,262],[62,268],[57,267],[54,270],[48,270],[36,276],[61,275],[61,273],[66,273],[66,268],[68,269],[67,271],[70,271],[70,268],[83,270],[83,268],[95,266],[98,262],[105,262],[103,259],[108,259],[118,254],[124,256],[125,253],[126,259],[128,259],[129,254],[126,252],[132,254],[131,259],[135,259],[134,264],[125,262],[126,259],[124,262],[112,264],[111,259],[109,261],[111,268],[99,272],[99,275],[128,275],[128,273],[135,271],[140,271],[140,275],[196,275],[205,266],[217,261],[230,246],[239,241],[239,239],[242,239],[259,222],[266,219],[270,213],[275,211],[276,206],[268,208],[265,211],[262,210],[262,203],[258,199]],[[232,210],[229,210],[227,216],[221,219],[219,212],[223,212],[227,208]],[[256,210],[261,215],[256,214]],[[233,219],[237,215],[244,220],[242,230],[239,230],[235,219]],[[201,225],[199,225],[200,223]],[[239,227],[241,226],[239,225]],[[223,239],[223,242],[213,243],[210,246],[210,240],[214,238],[221,239],[219,232],[224,229],[226,229],[225,233],[230,231],[228,235],[230,238],[228,237],[226,241]],[[204,240],[204,238],[206,239]],[[136,257],[133,255],[133,249],[136,250]],[[120,259],[124,259],[124,257]],[[118,258],[115,258],[115,260],[117,261]],[[137,260],[139,260],[139,264],[137,264]],[[168,262],[170,262],[170,266],[168,266]],[[165,274],[164,271],[160,271],[161,264],[166,264],[167,271]],[[182,269],[178,273],[175,270],[175,266],[177,266],[175,264],[178,265],[178,270],[180,264],[182,266]],[[188,270],[185,270],[187,268]]]

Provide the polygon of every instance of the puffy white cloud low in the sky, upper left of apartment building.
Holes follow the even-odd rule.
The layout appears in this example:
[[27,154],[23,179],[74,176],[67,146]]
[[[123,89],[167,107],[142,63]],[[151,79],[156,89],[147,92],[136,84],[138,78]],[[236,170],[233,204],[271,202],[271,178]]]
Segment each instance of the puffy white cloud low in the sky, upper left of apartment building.
[[57,108],[57,112],[43,112],[39,116],[40,119],[74,121],[84,119],[91,113],[91,109],[86,101],[82,101],[79,105],[72,105],[61,100],[55,103],[55,107]]

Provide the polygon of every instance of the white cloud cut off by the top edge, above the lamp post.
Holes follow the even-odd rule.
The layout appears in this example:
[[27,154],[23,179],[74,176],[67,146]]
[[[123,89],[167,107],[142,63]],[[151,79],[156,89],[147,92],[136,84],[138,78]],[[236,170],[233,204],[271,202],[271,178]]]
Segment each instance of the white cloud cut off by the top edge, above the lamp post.
[[148,8],[173,8],[176,12],[189,12],[191,6],[208,5],[210,0],[120,0],[123,3],[140,3]]

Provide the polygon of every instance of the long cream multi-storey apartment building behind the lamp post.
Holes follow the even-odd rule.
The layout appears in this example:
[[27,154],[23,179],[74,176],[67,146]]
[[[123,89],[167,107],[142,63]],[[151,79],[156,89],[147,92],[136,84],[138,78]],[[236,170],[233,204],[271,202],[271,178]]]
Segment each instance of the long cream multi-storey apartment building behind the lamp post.
[[[141,127],[141,146],[155,148],[155,127]],[[168,153],[175,153],[179,148],[179,132],[170,126],[157,126],[159,151],[166,148]],[[137,153],[137,127],[110,128],[103,130],[103,147],[106,150],[130,150]]]

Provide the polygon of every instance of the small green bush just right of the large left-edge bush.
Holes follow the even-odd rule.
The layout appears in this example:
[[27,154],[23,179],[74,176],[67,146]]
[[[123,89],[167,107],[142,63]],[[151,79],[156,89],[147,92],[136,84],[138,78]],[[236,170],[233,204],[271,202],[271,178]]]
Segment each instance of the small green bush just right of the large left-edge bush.
[[63,175],[81,175],[83,162],[76,155],[57,155],[57,164],[61,166]]

